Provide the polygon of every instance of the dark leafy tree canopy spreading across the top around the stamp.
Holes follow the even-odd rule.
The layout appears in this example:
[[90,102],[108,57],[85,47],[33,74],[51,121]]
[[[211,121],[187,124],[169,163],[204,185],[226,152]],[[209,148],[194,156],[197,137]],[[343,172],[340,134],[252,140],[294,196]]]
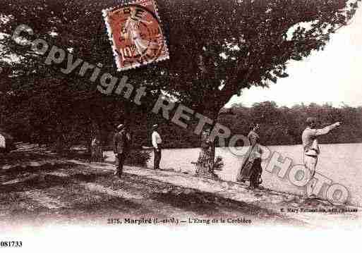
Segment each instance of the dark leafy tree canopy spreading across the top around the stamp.
[[[127,75],[135,87],[146,86],[150,100],[163,90],[215,119],[234,94],[286,78],[290,61],[322,50],[358,8],[357,0],[157,0],[169,61],[116,73],[102,9],[127,2],[3,0],[1,14],[10,20],[0,32],[11,35],[17,25],[27,24],[34,38],[102,63],[103,71]],[[6,106],[7,115],[17,121],[28,118],[33,128],[48,122],[63,130],[72,123],[82,129],[90,117],[101,124],[114,116],[106,116],[106,110],[124,113],[124,99],[100,94],[87,78],[60,73],[61,65],[46,66],[44,56],[10,37],[1,43],[2,55],[20,56],[3,66],[6,78],[0,81],[1,104],[13,105]]]

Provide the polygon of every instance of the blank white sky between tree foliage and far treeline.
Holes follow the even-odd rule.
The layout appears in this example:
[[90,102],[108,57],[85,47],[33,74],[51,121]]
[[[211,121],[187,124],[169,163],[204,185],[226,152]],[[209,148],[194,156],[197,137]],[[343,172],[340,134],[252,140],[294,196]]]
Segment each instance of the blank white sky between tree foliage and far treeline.
[[270,88],[251,87],[231,104],[251,106],[275,101],[279,106],[325,104],[362,106],[362,6],[351,23],[339,29],[324,51],[313,52],[303,61],[293,61],[287,68],[288,78],[281,78]]

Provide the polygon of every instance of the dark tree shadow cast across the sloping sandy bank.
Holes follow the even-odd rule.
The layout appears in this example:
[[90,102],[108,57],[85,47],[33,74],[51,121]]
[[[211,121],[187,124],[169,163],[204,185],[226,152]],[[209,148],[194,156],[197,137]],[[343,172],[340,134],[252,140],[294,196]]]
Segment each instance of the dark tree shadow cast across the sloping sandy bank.
[[[47,173],[67,171],[68,176],[49,175]],[[66,203],[59,209],[28,208],[29,203],[19,202],[12,215],[22,216],[25,213],[32,216],[46,215],[59,218],[81,220],[84,217],[109,216],[119,214],[124,216],[157,216],[167,218],[173,210],[183,213],[192,213],[195,216],[223,217],[223,216],[249,216],[258,220],[274,220],[279,223],[294,222],[282,214],[277,214],[269,209],[261,208],[246,202],[227,199],[217,194],[201,192],[187,187],[180,187],[165,183],[143,175],[131,175],[124,173],[121,179],[114,177],[113,173],[96,173],[86,166],[40,166],[37,168],[23,168],[14,171],[2,172],[2,175],[19,177],[23,173],[35,175],[34,177],[19,183],[1,185],[3,194],[16,194],[29,190],[42,190],[51,197],[59,197]],[[131,195],[142,196],[141,199],[128,199],[125,197],[110,196],[107,192],[93,192],[83,188],[79,183],[95,183],[111,190],[128,192]],[[2,199],[2,198],[1,198]],[[3,199],[4,200],[4,199]],[[5,200],[4,200],[5,201]],[[4,203],[4,201],[1,201]],[[150,201],[154,206],[150,206]],[[2,204],[2,203],[0,203]],[[23,207],[21,207],[23,205]],[[24,207],[25,206],[25,207]],[[23,212],[22,209],[28,208]],[[29,211],[30,210],[30,211]]]

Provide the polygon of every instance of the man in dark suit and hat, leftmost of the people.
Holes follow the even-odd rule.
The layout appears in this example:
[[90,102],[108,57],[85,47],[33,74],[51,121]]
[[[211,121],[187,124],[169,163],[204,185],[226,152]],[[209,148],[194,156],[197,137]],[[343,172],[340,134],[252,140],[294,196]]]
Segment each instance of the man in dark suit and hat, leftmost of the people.
[[113,137],[113,152],[116,155],[118,161],[118,166],[114,175],[118,175],[121,178],[123,173],[123,163],[126,160],[126,155],[128,154],[130,144],[131,144],[131,135],[127,130],[126,125],[120,124],[117,127],[118,132]]

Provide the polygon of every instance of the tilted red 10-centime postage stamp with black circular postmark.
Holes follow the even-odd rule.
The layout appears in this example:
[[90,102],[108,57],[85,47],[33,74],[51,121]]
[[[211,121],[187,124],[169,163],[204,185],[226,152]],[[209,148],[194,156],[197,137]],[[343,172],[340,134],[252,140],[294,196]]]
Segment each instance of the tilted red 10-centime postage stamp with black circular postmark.
[[154,0],[140,0],[102,11],[117,70],[169,59]]

